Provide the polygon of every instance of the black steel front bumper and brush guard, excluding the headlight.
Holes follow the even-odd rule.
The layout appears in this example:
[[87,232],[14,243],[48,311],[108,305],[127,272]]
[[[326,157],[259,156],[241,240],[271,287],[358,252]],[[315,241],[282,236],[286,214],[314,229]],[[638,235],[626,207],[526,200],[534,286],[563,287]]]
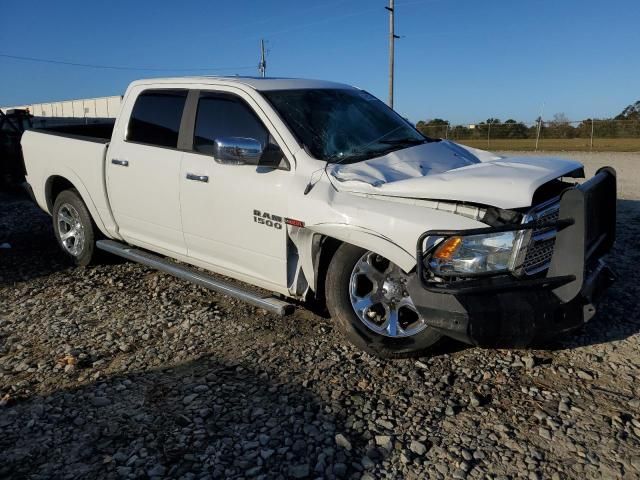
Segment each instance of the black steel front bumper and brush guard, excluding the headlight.
[[504,275],[432,282],[422,263],[429,255],[423,245],[428,237],[531,229],[539,224],[425,232],[417,245],[419,267],[408,284],[411,298],[429,326],[478,346],[524,347],[575,329],[593,317],[598,299],[614,281],[603,257],[615,240],[615,211],[612,168],[565,190],[559,220],[553,224],[558,233],[550,267],[534,278]]

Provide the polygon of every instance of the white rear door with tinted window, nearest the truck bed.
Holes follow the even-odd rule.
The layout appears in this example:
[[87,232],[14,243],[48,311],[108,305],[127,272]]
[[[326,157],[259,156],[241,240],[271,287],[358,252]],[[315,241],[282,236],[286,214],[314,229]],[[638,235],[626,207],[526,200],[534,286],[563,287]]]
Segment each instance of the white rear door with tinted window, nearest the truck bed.
[[[180,216],[180,124],[187,90],[142,91],[124,139],[112,142],[107,188],[119,232],[129,243],[186,254]],[[122,112],[126,118],[127,112]],[[122,133],[122,132],[121,132]]]

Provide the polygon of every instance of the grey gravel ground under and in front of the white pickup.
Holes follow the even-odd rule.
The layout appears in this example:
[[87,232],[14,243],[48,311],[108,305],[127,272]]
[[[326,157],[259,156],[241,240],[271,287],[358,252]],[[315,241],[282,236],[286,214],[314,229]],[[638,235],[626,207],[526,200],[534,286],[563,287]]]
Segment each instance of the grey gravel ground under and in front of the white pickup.
[[381,361],[306,310],[73,268],[0,194],[0,478],[639,478],[639,205],[583,330]]

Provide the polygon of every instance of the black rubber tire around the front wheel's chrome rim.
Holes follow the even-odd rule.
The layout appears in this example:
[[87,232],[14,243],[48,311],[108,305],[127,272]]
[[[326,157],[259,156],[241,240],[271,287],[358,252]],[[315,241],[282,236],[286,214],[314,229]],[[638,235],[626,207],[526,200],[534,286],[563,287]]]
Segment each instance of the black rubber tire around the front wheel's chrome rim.
[[410,337],[387,337],[370,330],[353,310],[349,296],[351,273],[366,252],[363,248],[343,244],[331,260],[326,279],[327,308],[331,317],[353,344],[369,353],[383,358],[420,355],[441,338],[440,333],[427,327]]

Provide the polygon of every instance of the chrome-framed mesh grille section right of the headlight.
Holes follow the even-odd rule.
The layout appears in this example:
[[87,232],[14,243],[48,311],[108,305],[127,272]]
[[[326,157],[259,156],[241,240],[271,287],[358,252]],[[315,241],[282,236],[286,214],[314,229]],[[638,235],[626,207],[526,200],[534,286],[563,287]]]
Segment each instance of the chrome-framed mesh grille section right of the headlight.
[[[538,221],[541,223],[555,222],[560,216],[559,203],[541,206],[530,212],[525,222]],[[538,228],[531,234],[531,241],[522,262],[522,271],[525,275],[535,275],[547,268],[553,256],[553,247],[556,243],[555,228]]]

